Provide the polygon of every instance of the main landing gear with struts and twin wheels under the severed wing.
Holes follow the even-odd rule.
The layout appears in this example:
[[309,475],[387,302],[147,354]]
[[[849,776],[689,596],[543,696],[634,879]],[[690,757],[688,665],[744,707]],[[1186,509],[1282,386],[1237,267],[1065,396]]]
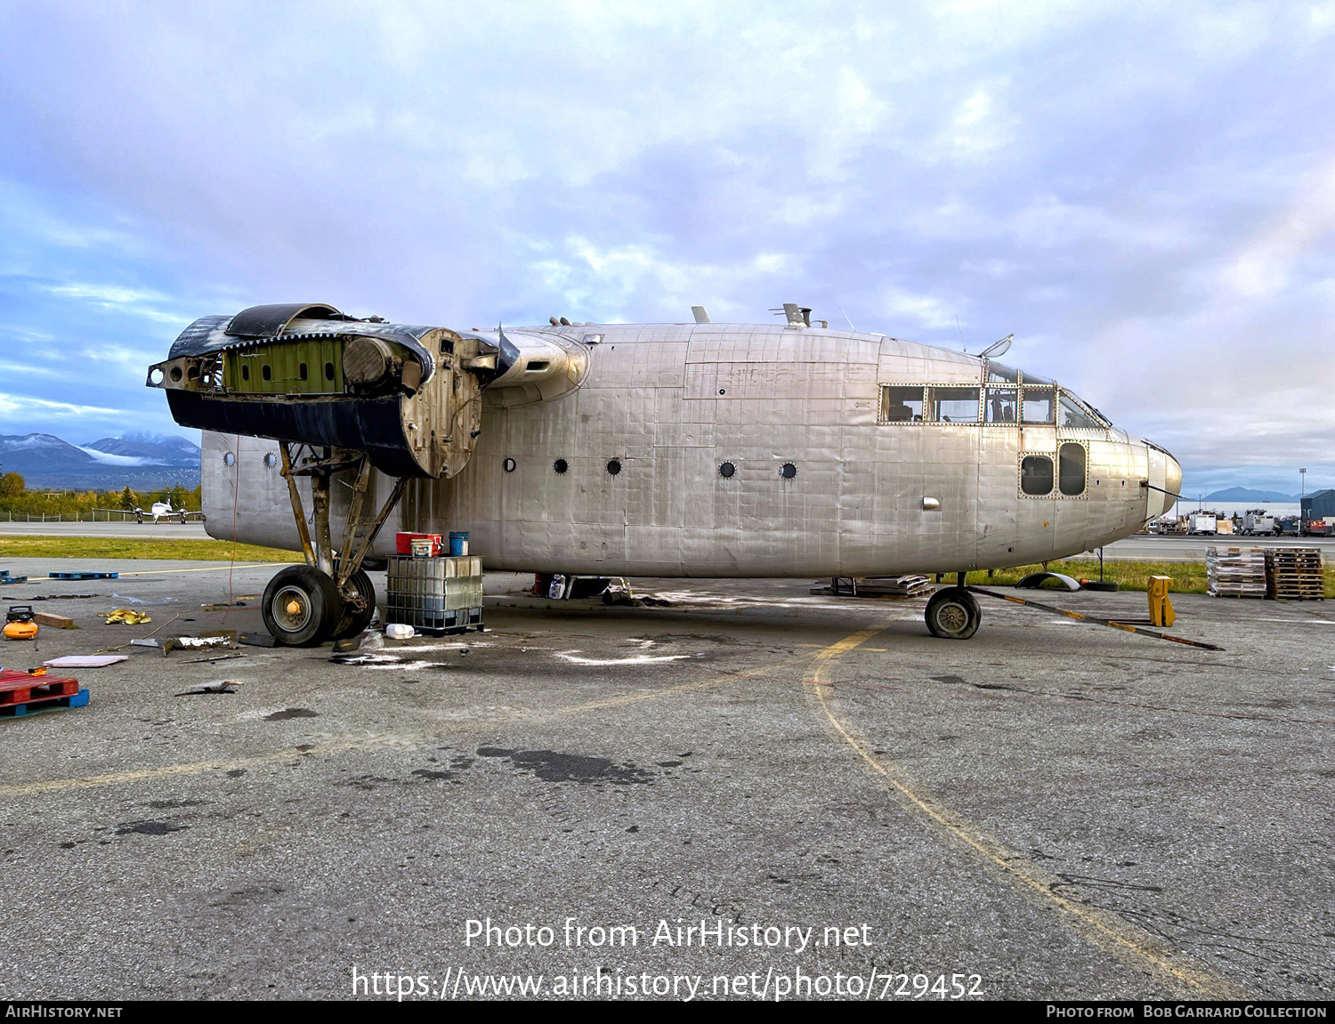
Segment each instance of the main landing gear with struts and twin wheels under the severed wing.
[[[274,639],[290,648],[315,648],[326,641],[348,639],[362,633],[375,617],[375,587],[362,569],[376,534],[403,495],[406,481],[396,478],[390,495],[371,519],[362,506],[371,482],[371,463],[364,454],[338,449],[310,449],[304,458],[287,443],[279,445],[283,477],[296,518],[306,565],[280,570],[264,587],[260,611]],[[330,481],[335,473],[356,470],[342,543],[335,549],[330,531]],[[306,525],[296,477],[311,478],[315,538]]]

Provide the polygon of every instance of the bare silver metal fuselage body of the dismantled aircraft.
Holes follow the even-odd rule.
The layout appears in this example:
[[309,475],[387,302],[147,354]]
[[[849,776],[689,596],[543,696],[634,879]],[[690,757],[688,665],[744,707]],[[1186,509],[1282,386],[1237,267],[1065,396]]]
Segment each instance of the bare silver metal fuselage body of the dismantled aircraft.
[[[491,570],[833,577],[991,569],[1127,537],[1171,507],[1153,487],[1176,491],[1181,479],[1171,455],[1113,427],[987,423],[985,414],[969,423],[882,422],[882,386],[985,383],[985,360],[925,344],[750,324],[506,336],[534,351],[558,340],[570,358],[555,376],[483,391],[467,467],[451,479],[413,481],[376,554],[394,550],[398,530],[467,530]],[[1087,453],[1083,491],[1025,494],[1021,459],[1056,458],[1069,442]],[[298,550],[286,482],[278,459],[266,458],[276,443],[206,434],[203,447],[210,534]],[[732,477],[720,473],[725,462],[736,467]],[[785,463],[793,475],[784,475]],[[379,495],[388,486],[375,474]],[[335,482],[335,525],[347,491]]]

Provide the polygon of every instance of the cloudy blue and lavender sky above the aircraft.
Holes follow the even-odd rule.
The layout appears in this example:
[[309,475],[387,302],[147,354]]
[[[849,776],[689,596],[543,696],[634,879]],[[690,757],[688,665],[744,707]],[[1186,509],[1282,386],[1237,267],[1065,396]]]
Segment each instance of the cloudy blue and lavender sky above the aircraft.
[[192,319],[800,302],[1335,486],[1335,3],[0,0],[0,434],[174,429]]

